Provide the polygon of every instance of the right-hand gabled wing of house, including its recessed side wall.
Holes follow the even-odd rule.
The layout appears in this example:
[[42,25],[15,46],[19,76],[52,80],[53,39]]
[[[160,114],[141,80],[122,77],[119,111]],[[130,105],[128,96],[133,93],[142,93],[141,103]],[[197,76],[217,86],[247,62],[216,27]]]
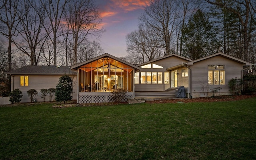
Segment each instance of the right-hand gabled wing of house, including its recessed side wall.
[[232,78],[242,78],[243,71],[250,66],[250,62],[218,52],[177,66],[170,66],[167,70],[177,74],[177,86],[186,88],[187,98],[197,98],[212,96],[212,90],[216,88],[220,88],[218,95],[229,95],[228,82]]

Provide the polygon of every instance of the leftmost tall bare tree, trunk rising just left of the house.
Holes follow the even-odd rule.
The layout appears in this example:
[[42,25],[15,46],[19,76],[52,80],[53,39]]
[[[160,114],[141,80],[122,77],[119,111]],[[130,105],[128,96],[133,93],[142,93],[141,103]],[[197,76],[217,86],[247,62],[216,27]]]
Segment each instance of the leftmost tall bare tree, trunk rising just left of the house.
[[16,27],[20,22],[17,15],[19,0],[1,0],[0,34],[8,39],[8,70],[12,70],[12,37],[17,36]]

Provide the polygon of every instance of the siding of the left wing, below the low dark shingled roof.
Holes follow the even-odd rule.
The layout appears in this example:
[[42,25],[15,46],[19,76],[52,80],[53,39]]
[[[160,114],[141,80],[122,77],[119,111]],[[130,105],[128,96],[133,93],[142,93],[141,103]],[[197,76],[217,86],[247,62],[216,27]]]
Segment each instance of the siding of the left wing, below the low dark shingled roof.
[[[24,75],[26,76],[26,75]],[[13,75],[12,77],[12,89],[19,88],[22,91],[22,100],[21,102],[31,102],[27,91],[30,89],[35,89],[38,91],[38,96],[36,96],[37,102],[43,102],[44,100],[41,98],[40,89],[43,88],[56,88],[59,78],[62,75],[28,75],[28,87],[20,87],[20,75]],[[73,80],[73,100],[77,99],[77,80],[76,76]],[[52,98],[54,100],[55,97]],[[49,101],[49,96],[46,96],[46,102]]]

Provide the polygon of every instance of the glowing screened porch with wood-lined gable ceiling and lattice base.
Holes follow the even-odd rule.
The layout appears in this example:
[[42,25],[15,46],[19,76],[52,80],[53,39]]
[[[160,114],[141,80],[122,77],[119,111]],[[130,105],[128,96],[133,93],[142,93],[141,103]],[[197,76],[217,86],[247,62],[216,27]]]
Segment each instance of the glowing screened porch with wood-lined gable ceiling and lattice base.
[[71,67],[77,71],[78,103],[111,102],[111,92],[118,88],[127,91],[126,98],[134,98],[134,73],[140,67],[102,54]]

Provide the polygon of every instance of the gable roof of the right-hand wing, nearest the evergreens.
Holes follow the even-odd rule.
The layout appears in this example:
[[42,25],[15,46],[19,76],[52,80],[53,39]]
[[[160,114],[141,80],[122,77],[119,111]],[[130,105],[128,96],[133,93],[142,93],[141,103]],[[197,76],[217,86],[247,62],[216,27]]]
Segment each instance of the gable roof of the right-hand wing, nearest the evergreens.
[[222,52],[218,52],[218,53],[215,53],[215,54],[211,54],[211,55],[209,55],[209,56],[206,56],[206,57],[203,57],[203,58],[199,58],[199,59],[193,60],[193,61],[191,61],[191,62],[187,62],[186,64],[187,64],[187,65],[193,65],[193,64],[196,63],[196,62],[199,62],[199,61],[201,61],[201,60],[206,60],[206,59],[212,58],[212,57],[214,57],[214,56],[222,56],[222,57],[228,58],[228,59],[230,59],[230,60],[234,60],[234,61],[236,61],[236,62],[242,63],[242,64],[244,64],[244,66],[251,66],[251,65],[252,65],[250,62],[246,62],[246,61],[244,61],[244,60],[241,60],[241,59],[239,59],[239,58],[235,58],[235,57],[233,57],[233,56],[230,56],[230,55],[228,55],[228,54],[224,54],[224,53],[222,53]]

